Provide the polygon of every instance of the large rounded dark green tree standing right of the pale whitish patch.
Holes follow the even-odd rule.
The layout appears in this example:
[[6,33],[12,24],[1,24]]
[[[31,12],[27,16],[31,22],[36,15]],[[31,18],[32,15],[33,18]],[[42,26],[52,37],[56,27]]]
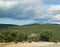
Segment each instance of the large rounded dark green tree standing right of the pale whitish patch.
[[41,41],[51,41],[53,37],[52,31],[42,31],[40,34],[40,40]]

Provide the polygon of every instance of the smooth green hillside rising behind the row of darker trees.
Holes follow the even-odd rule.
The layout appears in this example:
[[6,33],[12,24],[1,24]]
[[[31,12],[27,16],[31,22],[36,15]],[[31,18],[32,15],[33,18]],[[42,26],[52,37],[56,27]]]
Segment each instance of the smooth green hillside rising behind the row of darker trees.
[[54,35],[54,39],[60,41],[60,25],[56,25],[56,24],[34,24],[34,25],[24,25],[24,26],[12,26],[5,29],[2,28],[0,29],[0,32],[18,31],[18,32],[24,32],[26,34],[32,34],[32,33],[40,34],[40,32],[44,30],[52,31]]

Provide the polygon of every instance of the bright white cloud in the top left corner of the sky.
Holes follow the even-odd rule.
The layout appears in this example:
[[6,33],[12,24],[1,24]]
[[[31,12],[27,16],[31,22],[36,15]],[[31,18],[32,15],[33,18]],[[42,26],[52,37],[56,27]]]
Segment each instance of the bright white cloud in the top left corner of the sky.
[[17,1],[0,1],[0,7],[2,8],[10,8],[17,4]]

